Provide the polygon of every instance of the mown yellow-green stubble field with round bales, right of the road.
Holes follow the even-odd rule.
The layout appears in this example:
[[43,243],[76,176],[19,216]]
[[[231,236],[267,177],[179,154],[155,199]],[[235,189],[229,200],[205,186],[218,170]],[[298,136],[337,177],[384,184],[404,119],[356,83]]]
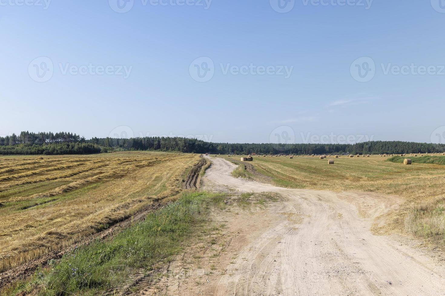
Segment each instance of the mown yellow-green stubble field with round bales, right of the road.
[[379,155],[340,157],[334,166],[326,166],[324,160],[311,156],[262,157],[255,158],[252,164],[259,173],[272,177],[272,183],[282,187],[365,191],[386,194],[388,198],[403,197],[405,204],[399,211],[388,214],[393,222],[388,231],[406,230],[421,237],[429,233],[430,239],[443,239],[445,212],[438,209],[445,196],[445,166],[419,163],[404,166],[386,159]]

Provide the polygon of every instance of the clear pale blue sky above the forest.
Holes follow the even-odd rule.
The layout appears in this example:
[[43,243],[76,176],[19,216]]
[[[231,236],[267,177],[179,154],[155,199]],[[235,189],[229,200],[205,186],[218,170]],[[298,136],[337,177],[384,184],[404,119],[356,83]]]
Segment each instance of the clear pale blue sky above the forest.
[[[106,137],[129,126],[135,135],[270,142],[274,130],[289,126],[295,142],[302,133],[431,142],[445,126],[445,75],[438,75],[445,74],[445,9],[436,0],[374,0],[370,7],[366,0],[295,0],[286,13],[272,8],[274,0],[119,0],[123,9],[133,5],[125,13],[113,10],[117,0],[27,1],[0,0],[0,135]],[[39,57],[53,63],[48,81],[35,81],[35,67],[44,67],[42,59],[32,62]],[[206,82],[192,73],[200,57],[214,63]],[[360,57],[375,63],[367,82],[354,78]],[[89,64],[113,66],[113,74],[76,73]],[[288,78],[224,73],[251,64],[293,68]],[[384,73],[411,64],[438,74]],[[119,66],[131,69],[128,77],[114,74]]]

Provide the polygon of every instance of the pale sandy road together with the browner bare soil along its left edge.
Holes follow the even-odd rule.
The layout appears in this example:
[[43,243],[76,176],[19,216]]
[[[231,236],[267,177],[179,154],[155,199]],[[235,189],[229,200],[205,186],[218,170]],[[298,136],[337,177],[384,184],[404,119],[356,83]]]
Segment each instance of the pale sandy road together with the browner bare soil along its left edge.
[[284,189],[233,178],[235,165],[212,162],[202,189],[276,192],[285,200],[218,213],[215,223],[227,226],[213,243],[191,246],[168,276],[141,294],[445,295],[441,254],[370,230],[397,209],[397,197]]

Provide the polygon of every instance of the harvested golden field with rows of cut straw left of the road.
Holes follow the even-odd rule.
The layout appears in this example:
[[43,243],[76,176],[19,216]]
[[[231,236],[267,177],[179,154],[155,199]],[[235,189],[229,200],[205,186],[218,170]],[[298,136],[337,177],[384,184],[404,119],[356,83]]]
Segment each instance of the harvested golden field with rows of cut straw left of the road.
[[[41,159],[43,158],[43,159]],[[0,270],[78,241],[179,193],[197,154],[0,157]]]

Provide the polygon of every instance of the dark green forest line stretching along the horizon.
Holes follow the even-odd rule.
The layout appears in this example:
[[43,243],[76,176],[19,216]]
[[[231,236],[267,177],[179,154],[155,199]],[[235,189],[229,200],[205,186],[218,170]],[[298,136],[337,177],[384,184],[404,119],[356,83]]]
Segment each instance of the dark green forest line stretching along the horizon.
[[356,144],[213,143],[196,138],[91,138],[67,132],[21,132],[0,137],[0,154],[90,154],[117,150],[160,150],[211,154],[402,154],[437,153],[445,144],[371,141]]

